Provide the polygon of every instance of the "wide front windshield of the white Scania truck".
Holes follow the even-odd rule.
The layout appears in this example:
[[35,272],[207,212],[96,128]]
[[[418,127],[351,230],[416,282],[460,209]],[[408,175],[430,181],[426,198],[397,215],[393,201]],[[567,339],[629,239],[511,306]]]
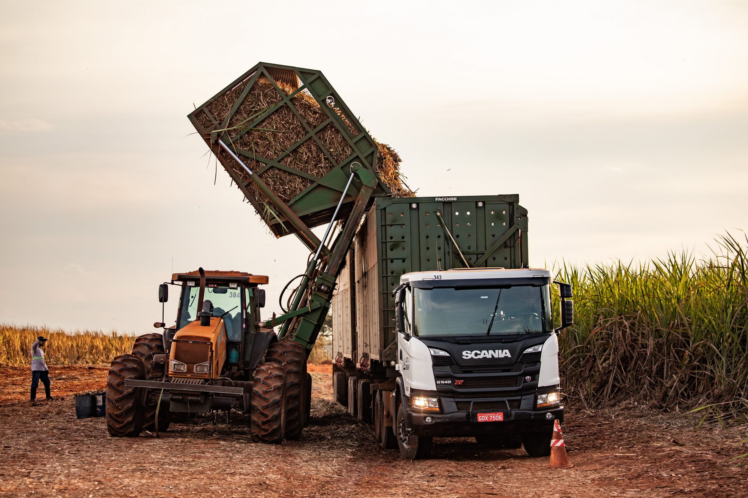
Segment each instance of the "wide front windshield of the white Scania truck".
[[414,334],[420,337],[551,332],[548,285],[414,289]]

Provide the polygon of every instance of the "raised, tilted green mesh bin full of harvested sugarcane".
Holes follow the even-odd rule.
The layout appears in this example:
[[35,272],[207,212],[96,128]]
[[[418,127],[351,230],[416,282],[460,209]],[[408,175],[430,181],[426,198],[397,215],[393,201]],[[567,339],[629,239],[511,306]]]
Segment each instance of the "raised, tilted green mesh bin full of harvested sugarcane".
[[[354,164],[375,172],[374,196],[414,195],[399,155],[370,137],[322,72],[259,63],[188,118],[277,237],[296,232],[289,217],[329,222]],[[352,182],[338,220],[360,187]]]

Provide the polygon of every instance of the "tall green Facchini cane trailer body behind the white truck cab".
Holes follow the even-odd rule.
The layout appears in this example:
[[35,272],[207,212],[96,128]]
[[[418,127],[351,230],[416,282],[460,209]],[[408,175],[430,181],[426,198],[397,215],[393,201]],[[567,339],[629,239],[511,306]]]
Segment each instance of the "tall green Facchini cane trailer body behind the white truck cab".
[[527,266],[519,196],[378,198],[356,234],[333,296],[333,354],[353,373],[395,360],[395,296],[405,273]]

